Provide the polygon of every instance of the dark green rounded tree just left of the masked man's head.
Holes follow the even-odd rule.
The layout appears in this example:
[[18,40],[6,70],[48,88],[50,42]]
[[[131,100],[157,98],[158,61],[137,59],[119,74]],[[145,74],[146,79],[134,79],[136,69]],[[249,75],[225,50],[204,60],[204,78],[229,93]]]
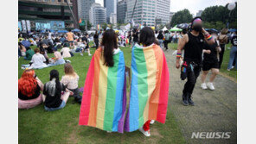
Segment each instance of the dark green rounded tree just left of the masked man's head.
[[189,23],[192,19],[193,16],[190,14],[189,9],[182,9],[172,16],[170,26],[174,27],[179,23]]

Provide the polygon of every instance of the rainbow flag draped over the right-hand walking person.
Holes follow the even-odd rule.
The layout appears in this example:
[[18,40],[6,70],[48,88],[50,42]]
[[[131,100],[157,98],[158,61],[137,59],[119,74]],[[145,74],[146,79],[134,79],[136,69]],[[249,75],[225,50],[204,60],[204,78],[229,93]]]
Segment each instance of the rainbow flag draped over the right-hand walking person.
[[125,131],[141,128],[148,120],[165,122],[169,70],[161,47],[136,44],[131,50],[131,91]]

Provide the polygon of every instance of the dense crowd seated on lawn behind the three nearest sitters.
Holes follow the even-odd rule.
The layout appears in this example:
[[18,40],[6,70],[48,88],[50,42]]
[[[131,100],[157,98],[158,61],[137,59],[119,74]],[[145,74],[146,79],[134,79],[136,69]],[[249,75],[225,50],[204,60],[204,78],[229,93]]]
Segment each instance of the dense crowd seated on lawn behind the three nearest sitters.
[[[62,65],[67,62],[63,58],[70,58],[74,56],[74,53],[80,53],[82,56],[83,53],[88,53],[88,55],[91,56],[89,45],[91,38],[89,34],[79,35],[80,36],[73,34],[72,32],[56,35],[34,34],[28,36],[27,34],[19,34],[18,56],[19,58],[23,57],[25,60],[31,60],[28,62],[29,65],[22,65],[22,68],[41,69],[48,66]],[[94,40],[96,40],[96,38],[94,38]],[[98,46],[99,44],[95,45]],[[39,52],[36,48],[33,50],[31,48],[32,46],[38,47]],[[49,58],[48,53],[54,53],[54,58]],[[36,55],[35,59],[32,60],[34,55]],[[36,58],[40,58],[40,60],[38,61]],[[38,63],[40,63],[40,65],[38,65]]]

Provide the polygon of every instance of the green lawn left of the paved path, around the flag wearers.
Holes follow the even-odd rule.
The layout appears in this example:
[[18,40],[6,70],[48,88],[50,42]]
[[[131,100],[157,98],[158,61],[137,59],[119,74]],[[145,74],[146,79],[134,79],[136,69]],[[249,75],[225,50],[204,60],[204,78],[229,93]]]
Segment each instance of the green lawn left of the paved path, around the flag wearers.
[[[33,47],[35,48],[35,47]],[[131,66],[131,48],[123,47],[121,50],[125,54],[126,66]],[[94,53],[94,48],[91,48]],[[48,54],[51,58],[53,54]],[[80,56],[74,53],[74,57],[68,58],[74,66],[75,72],[80,76],[79,87],[84,86],[86,72],[92,57]],[[22,58],[18,61],[18,77],[23,70],[22,64],[29,64],[29,61]],[[56,69],[60,72],[60,78],[64,75],[64,66],[52,66],[42,70],[35,70],[42,83],[49,80],[49,72]],[[63,110],[48,112],[43,109],[43,105],[38,105],[30,110],[18,110],[18,141],[19,143],[185,143],[184,138],[175,116],[170,110],[167,111],[165,124],[156,122],[151,125],[150,138],[146,138],[140,132],[118,134],[106,133],[98,128],[91,128],[78,125],[80,114],[80,104],[74,103],[74,98],[68,99]]]

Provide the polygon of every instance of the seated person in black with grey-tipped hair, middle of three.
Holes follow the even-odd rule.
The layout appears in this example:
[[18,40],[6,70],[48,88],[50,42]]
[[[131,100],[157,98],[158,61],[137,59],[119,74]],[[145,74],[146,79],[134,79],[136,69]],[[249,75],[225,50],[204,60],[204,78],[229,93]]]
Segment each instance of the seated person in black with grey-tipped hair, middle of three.
[[[63,94],[62,91],[64,92]],[[60,82],[59,72],[52,70],[50,72],[50,81],[44,85],[43,102],[44,109],[48,111],[60,110],[65,107],[69,95],[72,91],[66,89],[65,85]]]

